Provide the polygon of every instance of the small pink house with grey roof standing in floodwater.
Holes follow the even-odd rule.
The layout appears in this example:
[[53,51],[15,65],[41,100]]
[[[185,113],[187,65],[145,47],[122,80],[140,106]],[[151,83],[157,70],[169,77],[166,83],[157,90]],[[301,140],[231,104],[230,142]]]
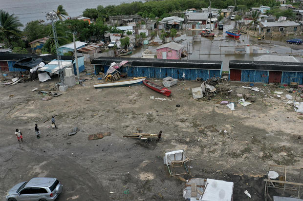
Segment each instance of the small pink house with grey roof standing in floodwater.
[[156,48],[157,58],[162,59],[180,59],[183,45],[170,42],[160,45]]

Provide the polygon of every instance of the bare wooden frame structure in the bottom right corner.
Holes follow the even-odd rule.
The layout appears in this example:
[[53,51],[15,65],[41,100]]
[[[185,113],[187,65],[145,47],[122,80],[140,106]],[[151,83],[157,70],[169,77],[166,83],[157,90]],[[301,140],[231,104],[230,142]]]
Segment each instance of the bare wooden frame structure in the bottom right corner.
[[[277,170],[279,167],[283,168],[283,175],[279,176],[279,180],[272,180],[268,177],[268,172],[271,171],[271,167],[276,167],[275,170]],[[301,172],[303,170],[303,167],[293,167],[293,166],[286,166],[286,165],[270,164],[268,172],[267,172],[267,178],[263,180],[265,182],[265,189],[264,189],[264,200],[265,201],[267,201],[268,197],[270,200],[272,200],[268,193],[268,188],[281,189],[281,190],[283,190],[283,194],[285,193],[286,190],[297,191],[297,195],[293,195],[292,197],[300,199],[300,186],[303,186],[303,183],[295,183],[295,182],[287,181],[286,169],[289,172],[290,171],[299,172],[298,178],[294,178],[293,174],[292,174],[292,177],[288,176],[288,178],[294,178],[294,180],[297,179],[298,181],[301,181]]]

